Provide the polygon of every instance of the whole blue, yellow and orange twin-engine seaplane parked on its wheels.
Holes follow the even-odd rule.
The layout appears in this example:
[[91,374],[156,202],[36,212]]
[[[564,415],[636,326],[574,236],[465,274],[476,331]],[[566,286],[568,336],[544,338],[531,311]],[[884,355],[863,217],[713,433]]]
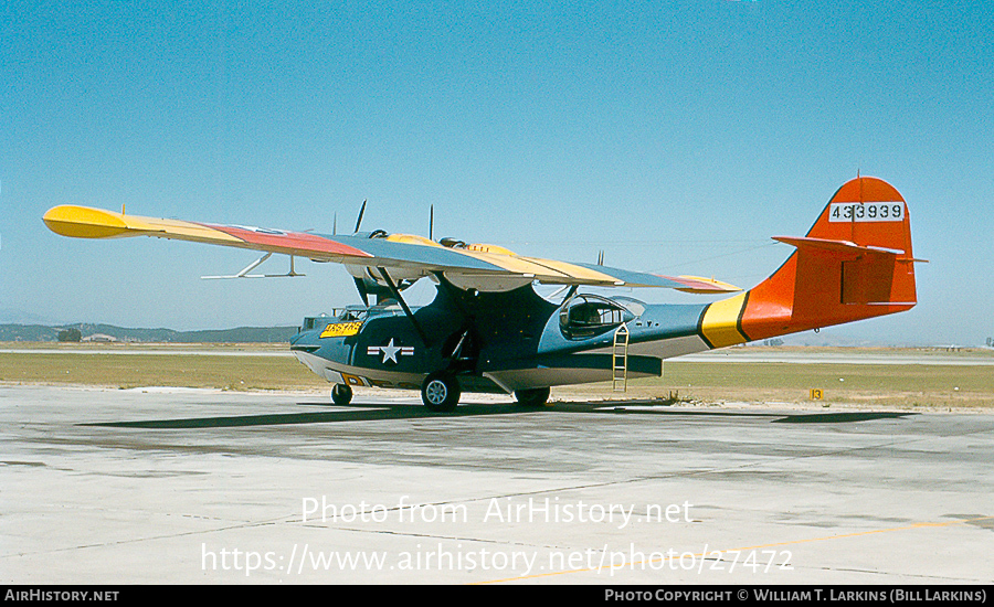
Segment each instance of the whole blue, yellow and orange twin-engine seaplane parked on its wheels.
[[[410,388],[424,405],[453,412],[463,393],[514,395],[544,405],[552,386],[659,376],[665,359],[902,312],[917,302],[908,205],[884,180],[857,177],[822,209],[765,280],[743,290],[713,278],[662,276],[598,264],[517,255],[493,244],[433,239],[382,230],[317,234],[144,217],[78,205],[44,214],[76,238],[151,236],[262,252],[232,275],[248,278],[273,254],[337,263],[361,305],[309,316],[290,339],[296,358],[347,405],[358,386]],[[337,230],[336,230],[337,232]],[[430,230],[431,232],[431,230]],[[221,278],[221,277],[214,277]],[[404,290],[420,280],[434,299],[412,308]],[[552,285],[559,297],[536,286]],[[708,303],[646,303],[625,292],[668,288],[727,296]],[[615,290],[616,292],[616,290]]]

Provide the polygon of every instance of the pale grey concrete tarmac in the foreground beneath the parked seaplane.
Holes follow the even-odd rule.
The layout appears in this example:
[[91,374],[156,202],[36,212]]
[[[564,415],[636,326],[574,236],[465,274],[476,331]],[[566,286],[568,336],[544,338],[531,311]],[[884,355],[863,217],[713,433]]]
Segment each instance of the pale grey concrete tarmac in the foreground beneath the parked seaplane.
[[14,584],[990,584],[994,416],[0,387]]

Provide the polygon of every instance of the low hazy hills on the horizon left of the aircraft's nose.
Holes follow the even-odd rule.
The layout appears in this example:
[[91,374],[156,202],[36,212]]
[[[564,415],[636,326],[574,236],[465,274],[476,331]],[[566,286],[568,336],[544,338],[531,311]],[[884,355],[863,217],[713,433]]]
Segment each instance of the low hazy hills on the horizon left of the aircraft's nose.
[[118,341],[171,343],[287,343],[296,327],[237,327],[204,331],[172,329],[127,329],[113,324],[77,322],[47,327],[44,324],[0,324],[0,341],[57,341],[59,331],[78,329],[83,337],[110,336]]

